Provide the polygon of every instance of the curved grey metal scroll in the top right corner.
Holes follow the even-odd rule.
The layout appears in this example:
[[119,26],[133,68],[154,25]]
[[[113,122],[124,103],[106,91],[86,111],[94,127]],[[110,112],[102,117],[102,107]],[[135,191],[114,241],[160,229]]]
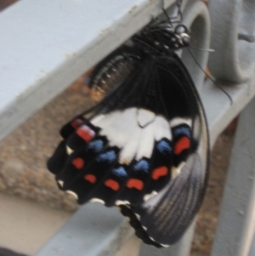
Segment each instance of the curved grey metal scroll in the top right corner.
[[215,49],[208,63],[210,71],[223,81],[244,82],[254,65],[254,0],[213,0],[209,10]]

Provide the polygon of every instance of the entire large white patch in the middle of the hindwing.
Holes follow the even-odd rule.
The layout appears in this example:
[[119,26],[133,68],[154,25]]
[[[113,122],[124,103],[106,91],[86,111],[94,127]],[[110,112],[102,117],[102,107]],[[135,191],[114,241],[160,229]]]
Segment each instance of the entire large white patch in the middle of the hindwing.
[[133,158],[138,161],[143,157],[150,158],[155,140],[172,139],[169,122],[164,117],[135,107],[99,115],[91,123],[100,128],[99,134],[109,139],[110,146],[121,149],[121,164],[130,164]]

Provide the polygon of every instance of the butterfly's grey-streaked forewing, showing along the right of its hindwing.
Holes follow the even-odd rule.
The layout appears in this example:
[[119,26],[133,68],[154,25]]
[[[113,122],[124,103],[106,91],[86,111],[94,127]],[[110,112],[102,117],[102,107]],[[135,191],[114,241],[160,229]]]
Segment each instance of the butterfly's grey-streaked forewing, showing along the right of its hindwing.
[[[164,189],[152,197],[139,208],[131,207],[130,216],[137,217],[138,223],[132,220],[131,225],[139,236],[144,235],[145,242],[158,243],[167,246],[177,242],[184,234],[195,217],[205,195],[208,177],[209,139],[207,121],[201,100],[195,90],[195,86],[188,71],[178,57],[174,62],[178,72],[183,73],[182,85],[188,85],[190,97],[193,97],[197,105],[197,112],[193,117],[192,137],[197,141],[195,151],[191,151],[178,176],[170,181]],[[146,230],[145,234],[143,230]],[[149,242],[148,242],[149,239]]]

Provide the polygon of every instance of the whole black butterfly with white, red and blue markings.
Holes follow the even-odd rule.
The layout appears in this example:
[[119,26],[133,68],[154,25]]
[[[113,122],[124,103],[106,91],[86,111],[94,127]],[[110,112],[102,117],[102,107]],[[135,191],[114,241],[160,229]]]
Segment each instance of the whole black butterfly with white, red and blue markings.
[[184,25],[155,21],[101,61],[89,86],[104,100],[61,129],[48,160],[59,189],[118,206],[156,247],[184,234],[207,186],[207,121],[174,52],[189,43]]

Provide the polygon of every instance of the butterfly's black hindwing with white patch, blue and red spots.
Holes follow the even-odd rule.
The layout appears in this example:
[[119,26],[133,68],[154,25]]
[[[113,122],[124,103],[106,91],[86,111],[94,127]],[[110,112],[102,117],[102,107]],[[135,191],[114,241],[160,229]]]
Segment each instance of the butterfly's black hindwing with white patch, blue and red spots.
[[[171,178],[170,128],[166,119],[155,114],[159,97],[155,82],[147,81],[150,76],[144,81],[142,73],[144,65],[152,69],[153,63],[140,62],[105,101],[62,129],[65,140],[49,159],[48,168],[57,174],[61,189],[75,193],[78,202],[140,204],[146,193],[159,191]],[[140,98],[140,94],[145,96]],[[164,106],[162,110],[166,112]],[[152,182],[147,182],[151,176]]]

